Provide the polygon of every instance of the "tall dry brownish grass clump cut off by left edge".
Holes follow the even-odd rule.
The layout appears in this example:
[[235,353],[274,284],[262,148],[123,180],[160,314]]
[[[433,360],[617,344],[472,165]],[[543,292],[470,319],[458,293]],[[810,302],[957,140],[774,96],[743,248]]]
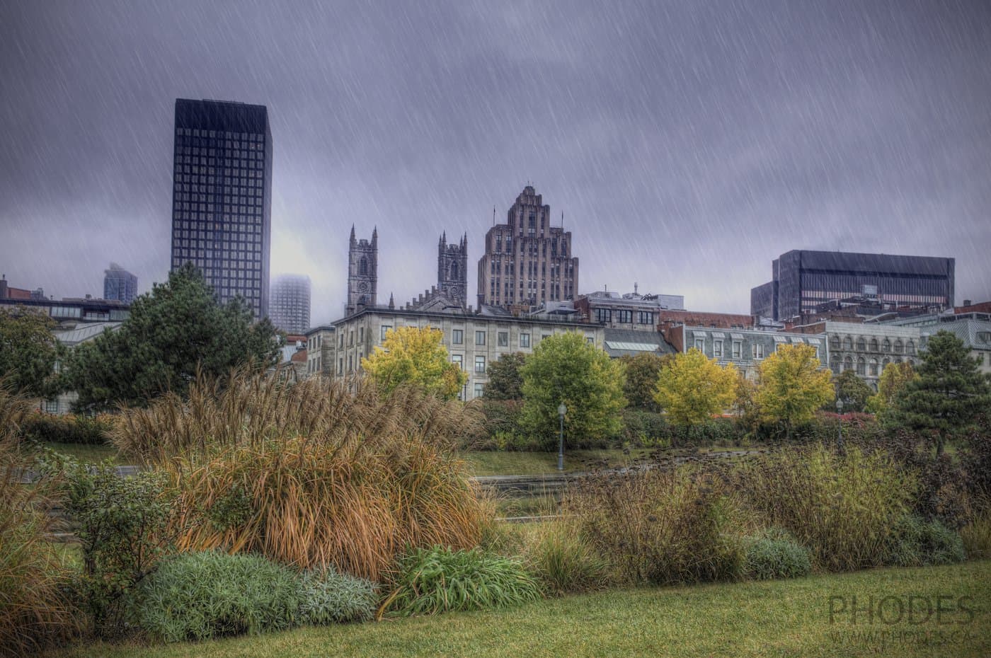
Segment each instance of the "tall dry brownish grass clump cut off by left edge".
[[76,611],[64,585],[69,571],[47,540],[53,483],[20,483],[31,458],[16,432],[27,400],[0,385],[0,653],[34,655],[74,634]]

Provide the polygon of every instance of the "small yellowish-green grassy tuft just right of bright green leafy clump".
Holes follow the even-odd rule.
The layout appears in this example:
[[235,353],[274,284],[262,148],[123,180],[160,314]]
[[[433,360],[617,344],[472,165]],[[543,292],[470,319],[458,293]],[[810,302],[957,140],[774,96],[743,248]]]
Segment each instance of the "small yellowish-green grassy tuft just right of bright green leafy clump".
[[566,521],[537,528],[524,557],[548,595],[590,592],[606,586],[608,563]]

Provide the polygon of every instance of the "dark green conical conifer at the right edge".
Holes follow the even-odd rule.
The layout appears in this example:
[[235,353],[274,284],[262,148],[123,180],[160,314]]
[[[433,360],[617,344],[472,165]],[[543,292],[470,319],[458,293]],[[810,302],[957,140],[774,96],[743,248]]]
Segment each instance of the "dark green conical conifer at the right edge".
[[980,372],[980,359],[945,330],[930,337],[918,373],[896,393],[887,420],[889,426],[929,434],[938,456],[946,439],[968,430],[991,406],[991,384]]

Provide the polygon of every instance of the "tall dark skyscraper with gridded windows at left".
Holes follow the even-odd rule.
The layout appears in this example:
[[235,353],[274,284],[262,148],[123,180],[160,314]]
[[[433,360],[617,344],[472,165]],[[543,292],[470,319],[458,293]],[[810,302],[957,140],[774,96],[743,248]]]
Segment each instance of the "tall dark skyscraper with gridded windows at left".
[[171,268],[190,262],[220,302],[269,312],[272,132],[264,105],[175,100]]

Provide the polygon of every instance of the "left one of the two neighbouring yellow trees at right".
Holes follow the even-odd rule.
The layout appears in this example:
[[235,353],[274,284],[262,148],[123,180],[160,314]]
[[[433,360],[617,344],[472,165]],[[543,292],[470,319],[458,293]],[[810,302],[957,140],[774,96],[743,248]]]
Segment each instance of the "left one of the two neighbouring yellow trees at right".
[[732,364],[725,368],[696,348],[679,354],[660,373],[654,400],[675,425],[706,422],[736,399],[739,374]]

